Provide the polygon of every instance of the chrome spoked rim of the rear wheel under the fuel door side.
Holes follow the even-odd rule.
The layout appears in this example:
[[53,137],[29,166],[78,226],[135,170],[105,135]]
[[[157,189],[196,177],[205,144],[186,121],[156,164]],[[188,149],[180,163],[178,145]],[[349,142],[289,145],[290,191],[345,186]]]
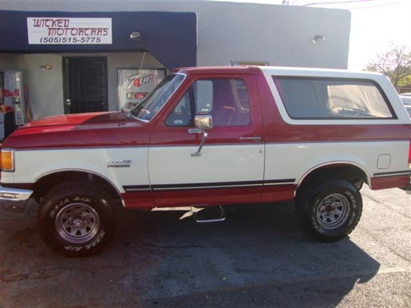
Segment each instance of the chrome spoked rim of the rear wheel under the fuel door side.
[[347,221],[349,208],[350,203],[344,195],[328,195],[317,206],[317,222],[325,229],[339,228]]

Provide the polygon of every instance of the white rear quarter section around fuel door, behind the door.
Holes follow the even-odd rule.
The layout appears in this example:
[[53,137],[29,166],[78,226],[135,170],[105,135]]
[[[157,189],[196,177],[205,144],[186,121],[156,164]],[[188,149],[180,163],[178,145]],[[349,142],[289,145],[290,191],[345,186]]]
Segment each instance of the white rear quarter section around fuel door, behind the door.
[[[407,170],[409,141],[278,143],[266,145],[265,180],[295,179],[299,183],[307,171],[329,163],[358,166],[368,178],[380,172]],[[379,155],[389,155],[388,168],[377,168]]]

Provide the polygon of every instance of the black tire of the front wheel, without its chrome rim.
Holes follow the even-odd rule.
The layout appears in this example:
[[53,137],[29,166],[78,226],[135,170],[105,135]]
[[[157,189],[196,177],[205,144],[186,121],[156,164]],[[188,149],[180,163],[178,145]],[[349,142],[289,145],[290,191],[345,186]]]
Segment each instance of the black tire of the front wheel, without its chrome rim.
[[[100,226],[96,235],[84,243],[64,240],[55,228],[55,218],[60,210],[70,203],[84,203],[99,216]],[[39,211],[38,225],[45,244],[54,252],[70,257],[95,254],[106,246],[115,229],[115,212],[109,199],[90,185],[65,184],[51,191]]]

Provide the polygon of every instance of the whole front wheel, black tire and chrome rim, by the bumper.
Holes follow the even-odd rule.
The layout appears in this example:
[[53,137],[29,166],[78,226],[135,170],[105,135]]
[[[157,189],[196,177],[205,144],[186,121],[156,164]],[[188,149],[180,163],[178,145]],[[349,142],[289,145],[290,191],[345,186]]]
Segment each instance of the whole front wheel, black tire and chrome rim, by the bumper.
[[38,216],[40,236],[54,252],[84,257],[113,236],[116,216],[108,196],[89,183],[63,183],[47,194]]

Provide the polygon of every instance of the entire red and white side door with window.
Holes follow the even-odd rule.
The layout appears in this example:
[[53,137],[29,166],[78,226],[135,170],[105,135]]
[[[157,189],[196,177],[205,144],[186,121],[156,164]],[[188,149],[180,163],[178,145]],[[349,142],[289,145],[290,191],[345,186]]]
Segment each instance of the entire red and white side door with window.
[[[196,114],[210,114],[214,124],[193,156],[204,137],[190,133]],[[264,157],[253,76],[196,75],[152,133],[148,173],[156,206],[260,202]]]

